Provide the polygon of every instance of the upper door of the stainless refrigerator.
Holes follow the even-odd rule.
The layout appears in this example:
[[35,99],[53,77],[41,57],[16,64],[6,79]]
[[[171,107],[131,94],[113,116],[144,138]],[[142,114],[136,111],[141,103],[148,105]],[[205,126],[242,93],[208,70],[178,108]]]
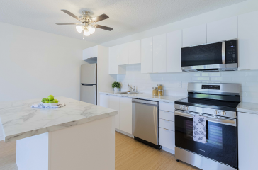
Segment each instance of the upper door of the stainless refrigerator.
[[84,64],[81,66],[81,84],[97,84],[96,64]]

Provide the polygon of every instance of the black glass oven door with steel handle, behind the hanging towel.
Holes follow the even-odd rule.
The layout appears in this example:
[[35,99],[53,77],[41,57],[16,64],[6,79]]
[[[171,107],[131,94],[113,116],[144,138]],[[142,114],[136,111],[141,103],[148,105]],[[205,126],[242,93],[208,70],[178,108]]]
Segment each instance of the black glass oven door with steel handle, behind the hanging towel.
[[237,123],[235,119],[206,117],[207,143],[195,142],[193,116],[199,113],[175,111],[176,147],[237,168]]

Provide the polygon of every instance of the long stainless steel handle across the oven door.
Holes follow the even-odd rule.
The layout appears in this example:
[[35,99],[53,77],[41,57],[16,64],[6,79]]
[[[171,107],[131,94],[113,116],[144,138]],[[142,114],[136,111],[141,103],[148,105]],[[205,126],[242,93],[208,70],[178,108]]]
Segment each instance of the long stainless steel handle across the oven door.
[[[186,117],[186,118],[193,118],[194,115],[199,115],[198,113],[184,113],[181,111],[174,111],[174,115],[179,115],[182,117]],[[207,116],[207,115],[201,115],[203,117],[206,118],[206,120],[208,120],[209,122],[213,122],[213,123],[220,123],[223,125],[230,125],[230,126],[237,126],[237,121],[235,119],[225,119],[225,118],[213,118],[211,116]]]

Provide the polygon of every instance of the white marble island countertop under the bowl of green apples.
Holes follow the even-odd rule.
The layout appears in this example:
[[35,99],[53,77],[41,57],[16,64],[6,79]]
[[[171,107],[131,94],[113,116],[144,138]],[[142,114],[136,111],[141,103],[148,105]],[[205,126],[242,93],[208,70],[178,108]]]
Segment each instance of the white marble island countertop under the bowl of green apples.
[[41,99],[0,102],[0,124],[3,128],[5,142],[69,128],[73,125],[118,114],[118,111],[113,109],[72,98],[57,97],[57,99],[66,106],[57,109],[30,107],[40,103]]

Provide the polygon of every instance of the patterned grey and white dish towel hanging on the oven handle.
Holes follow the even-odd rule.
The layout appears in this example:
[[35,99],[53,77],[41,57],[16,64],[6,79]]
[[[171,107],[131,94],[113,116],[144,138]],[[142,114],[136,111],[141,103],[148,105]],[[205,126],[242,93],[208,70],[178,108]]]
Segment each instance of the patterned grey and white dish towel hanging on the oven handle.
[[206,143],[206,118],[200,115],[194,115],[194,141]]

